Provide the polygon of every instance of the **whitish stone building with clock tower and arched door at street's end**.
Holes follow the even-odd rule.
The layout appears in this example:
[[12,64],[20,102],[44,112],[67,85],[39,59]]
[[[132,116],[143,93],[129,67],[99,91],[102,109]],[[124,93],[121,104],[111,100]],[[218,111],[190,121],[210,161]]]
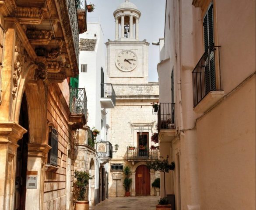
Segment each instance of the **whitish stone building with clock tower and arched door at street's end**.
[[[147,169],[146,162],[158,158],[158,149],[151,149],[151,135],[156,132],[157,123],[151,103],[158,101],[159,91],[158,83],[148,83],[149,43],[139,39],[141,13],[136,5],[125,0],[113,15],[115,40],[105,43],[106,80],[116,93],[115,109],[109,110],[108,115],[108,136],[119,149],[109,162],[109,196],[125,194],[124,165],[130,165],[132,170],[131,196],[154,195],[151,183],[155,173]],[[114,174],[121,174],[122,179],[116,182]]]

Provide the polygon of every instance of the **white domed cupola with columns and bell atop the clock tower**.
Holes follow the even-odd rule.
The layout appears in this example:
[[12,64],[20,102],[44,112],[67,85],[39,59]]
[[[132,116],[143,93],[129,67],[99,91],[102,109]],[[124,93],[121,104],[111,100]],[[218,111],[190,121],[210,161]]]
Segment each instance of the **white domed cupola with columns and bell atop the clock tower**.
[[125,0],[117,7],[113,15],[116,21],[115,41],[139,41],[141,13],[136,5],[129,0]]

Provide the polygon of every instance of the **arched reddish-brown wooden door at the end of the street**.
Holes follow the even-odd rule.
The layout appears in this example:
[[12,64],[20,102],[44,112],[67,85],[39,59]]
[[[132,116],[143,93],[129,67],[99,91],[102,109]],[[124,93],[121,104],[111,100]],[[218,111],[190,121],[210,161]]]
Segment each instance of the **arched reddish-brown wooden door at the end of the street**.
[[150,195],[150,171],[146,165],[137,167],[135,185],[136,195]]

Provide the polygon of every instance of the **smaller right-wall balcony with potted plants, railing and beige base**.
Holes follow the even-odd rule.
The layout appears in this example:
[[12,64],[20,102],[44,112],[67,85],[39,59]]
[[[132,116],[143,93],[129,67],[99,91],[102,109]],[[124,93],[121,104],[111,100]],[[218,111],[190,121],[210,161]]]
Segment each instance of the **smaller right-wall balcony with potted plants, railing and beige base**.
[[175,134],[175,103],[160,103],[158,108],[158,140],[160,143],[172,141]]

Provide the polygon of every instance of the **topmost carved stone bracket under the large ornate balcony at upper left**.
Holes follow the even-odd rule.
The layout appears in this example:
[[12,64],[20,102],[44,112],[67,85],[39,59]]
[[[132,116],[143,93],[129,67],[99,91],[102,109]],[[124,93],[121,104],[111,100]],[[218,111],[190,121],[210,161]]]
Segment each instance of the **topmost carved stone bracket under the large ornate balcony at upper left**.
[[15,16],[21,24],[41,24],[46,11],[46,8],[40,7],[17,7]]

